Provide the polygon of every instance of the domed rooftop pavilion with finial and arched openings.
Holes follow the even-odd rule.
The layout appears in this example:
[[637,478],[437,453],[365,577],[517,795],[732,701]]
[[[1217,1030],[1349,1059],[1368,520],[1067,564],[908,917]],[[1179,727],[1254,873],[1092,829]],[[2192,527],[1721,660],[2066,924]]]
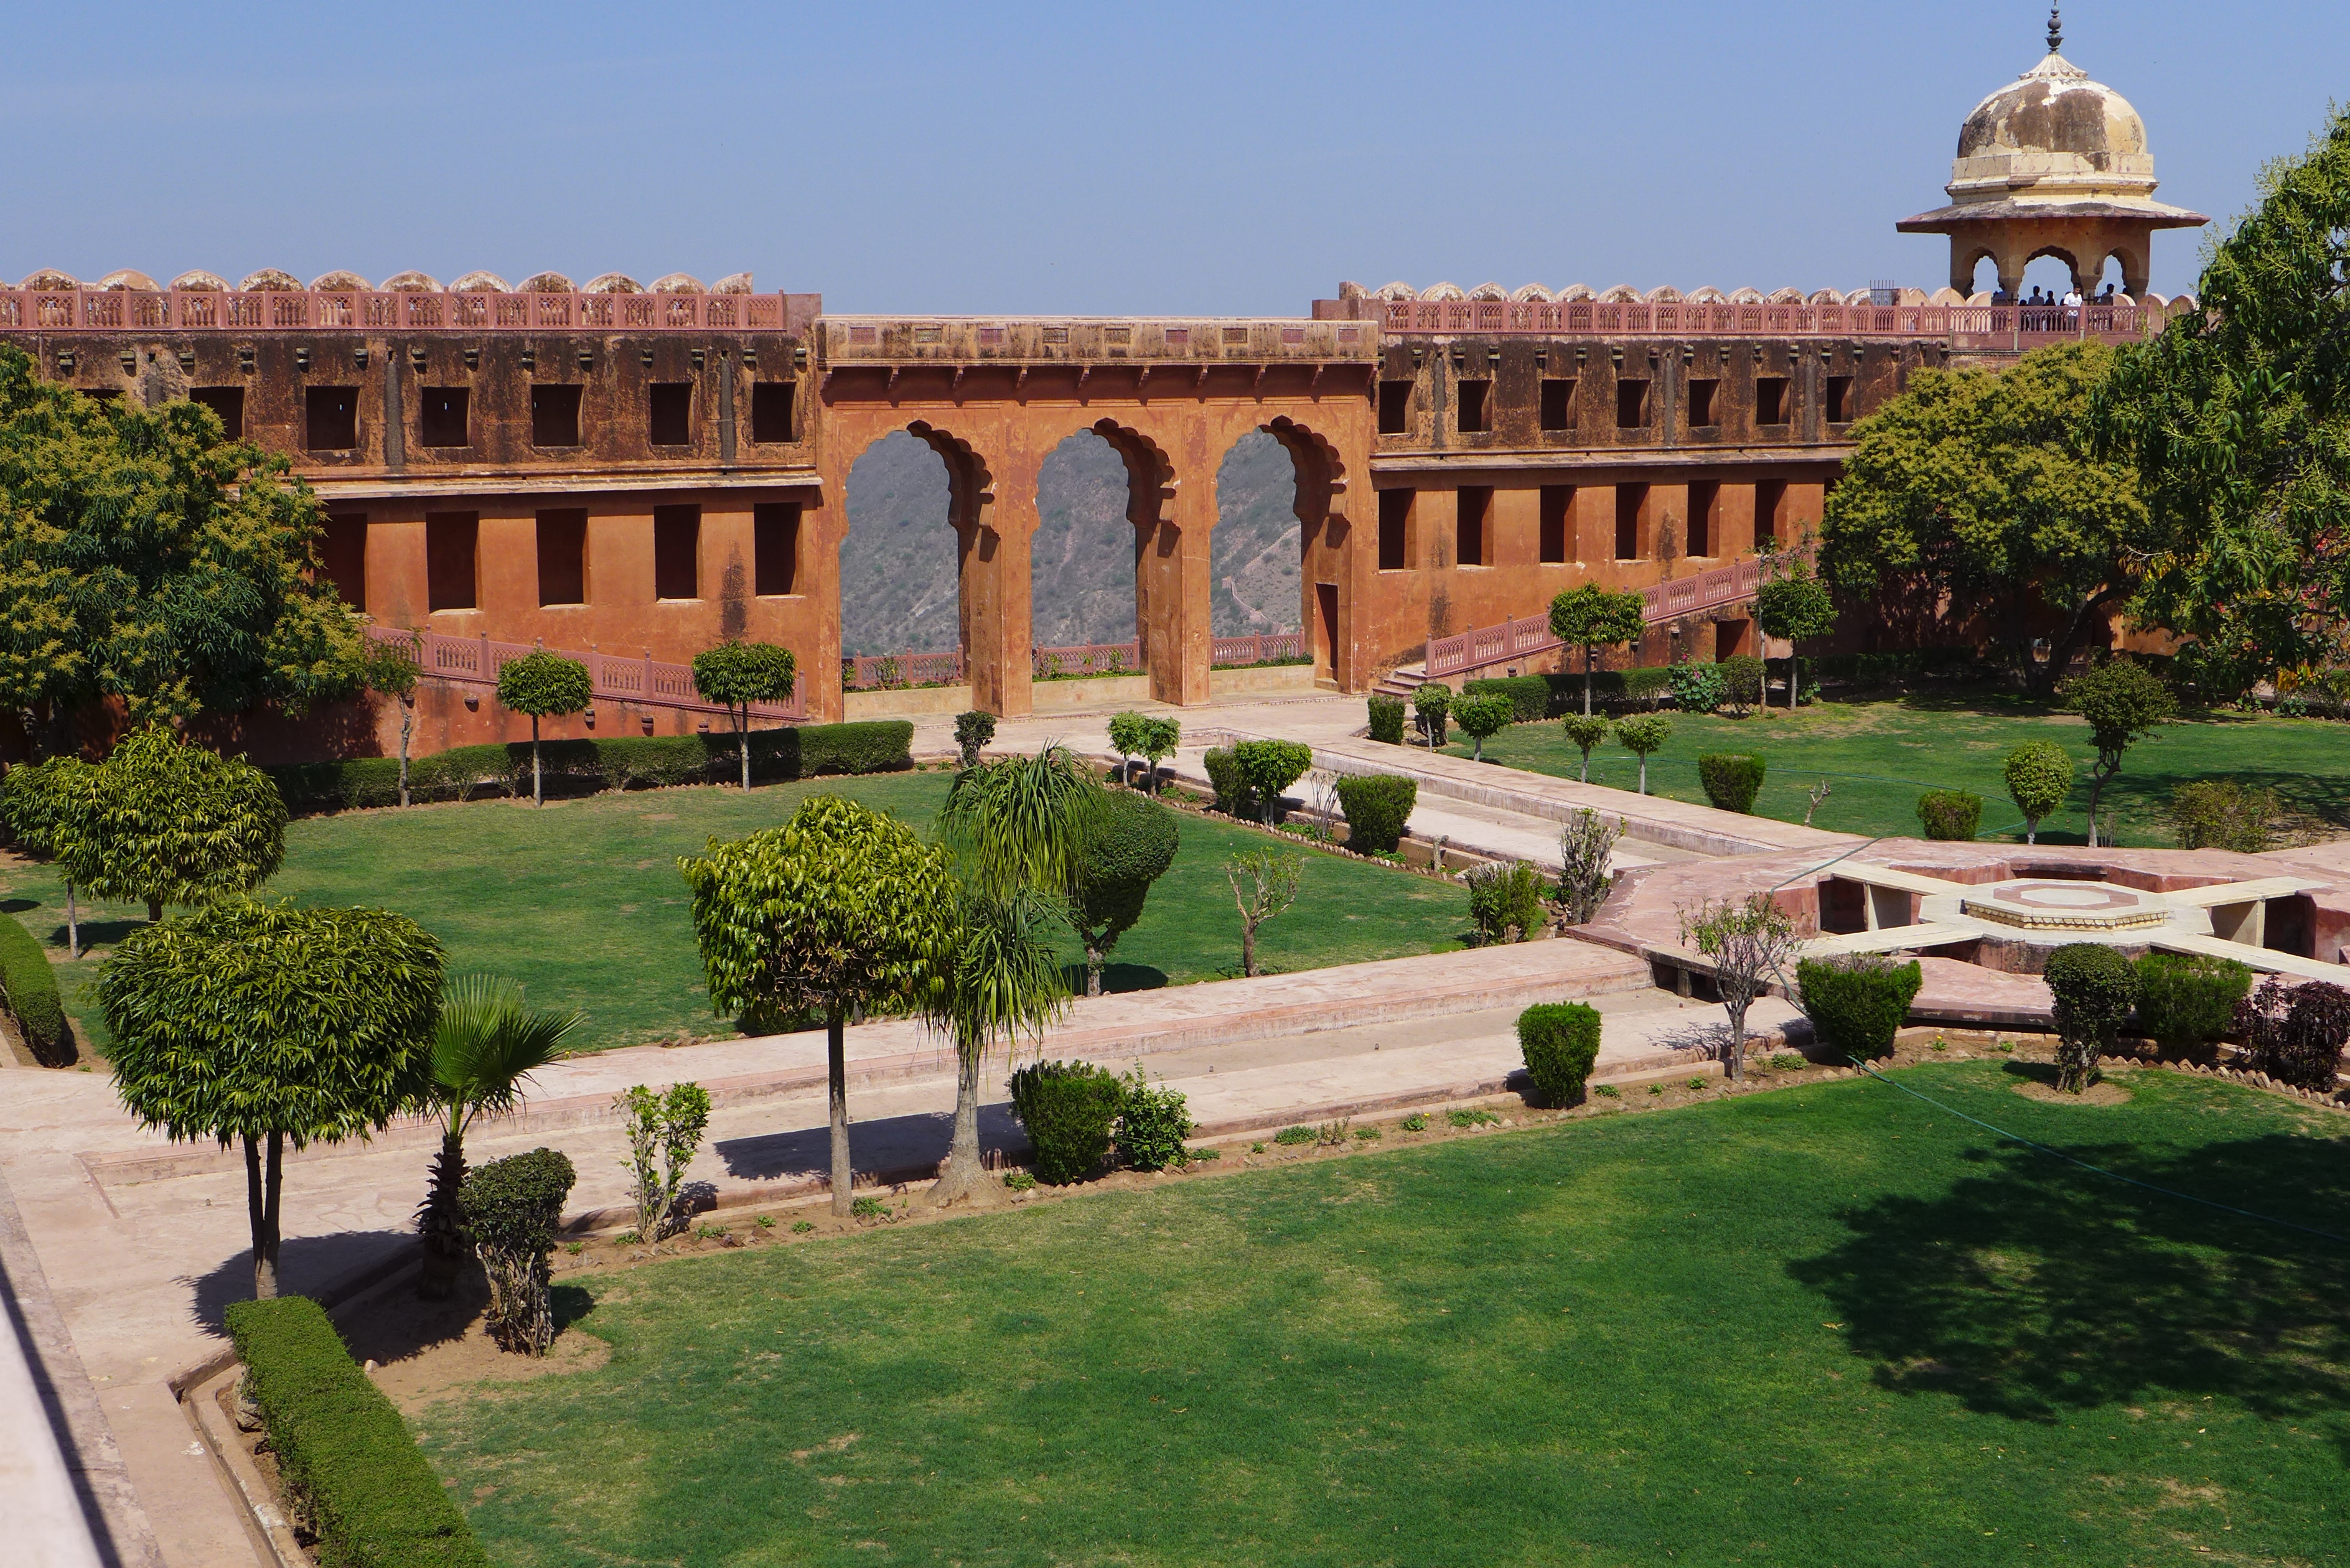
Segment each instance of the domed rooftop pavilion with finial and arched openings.
[[2049,7],[2049,54],[2016,82],[1974,106],[1958,132],[1948,207],[1894,223],[1906,235],[1950,235],[1950,287],[1974,292],[1974,266],[1990,256],[2009,299],[2035,256],[2073,268],[2089,294],[2120,259],[2122,289],[2146,296],[2157,228],[2200,228],[2211,219],[2155,200],[2146,122],[2115,89],[2059,54],[2063,26]]

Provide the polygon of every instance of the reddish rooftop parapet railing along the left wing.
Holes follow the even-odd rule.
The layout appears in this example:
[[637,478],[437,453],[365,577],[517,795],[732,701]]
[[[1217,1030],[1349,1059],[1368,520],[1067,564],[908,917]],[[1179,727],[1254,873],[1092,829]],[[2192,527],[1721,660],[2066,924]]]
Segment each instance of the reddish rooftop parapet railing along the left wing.
[[0,289],[0,331],[806,331],[815,294]]

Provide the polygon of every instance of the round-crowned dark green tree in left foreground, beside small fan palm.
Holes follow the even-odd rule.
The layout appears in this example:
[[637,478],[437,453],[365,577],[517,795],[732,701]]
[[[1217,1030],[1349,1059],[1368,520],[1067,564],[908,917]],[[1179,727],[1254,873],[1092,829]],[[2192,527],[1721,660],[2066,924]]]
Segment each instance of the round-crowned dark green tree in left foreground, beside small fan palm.
[[284,1145],[367,1138],[428,1093],[439,987],[402,914],[249,898],[141,926],[99,971],[125,1110],[244,1145],[254,1295],[277,1295]]

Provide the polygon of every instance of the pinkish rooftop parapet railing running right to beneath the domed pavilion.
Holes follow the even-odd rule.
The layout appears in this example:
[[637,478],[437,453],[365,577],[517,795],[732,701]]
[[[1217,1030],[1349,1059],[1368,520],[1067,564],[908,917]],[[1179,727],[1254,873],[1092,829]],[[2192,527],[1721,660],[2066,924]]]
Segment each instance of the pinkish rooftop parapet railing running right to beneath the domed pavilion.
[[2153,306],[1765,306],[1607,303],[1596,299],[1391,299],[1389,331],[1899,336],[1899,339],[2141,339],[2169,320]]

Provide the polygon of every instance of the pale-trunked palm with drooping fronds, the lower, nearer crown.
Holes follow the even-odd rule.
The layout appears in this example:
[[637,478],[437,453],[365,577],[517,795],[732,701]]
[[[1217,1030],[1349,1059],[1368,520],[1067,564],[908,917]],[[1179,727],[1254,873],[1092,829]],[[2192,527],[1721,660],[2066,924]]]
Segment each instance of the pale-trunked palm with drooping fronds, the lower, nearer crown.
[[935,1030],[954,1041],[954,1140],[931,1187],[931,1204],[964,1201],[980,1185],[980,1070],[1022,1037],[1039,1041],[1043,1025],[1069,1006],[1069,985],[1053,950],[1062,924],[1055,900],[1032,886],[961,896],[954,964],[928,1006]]

